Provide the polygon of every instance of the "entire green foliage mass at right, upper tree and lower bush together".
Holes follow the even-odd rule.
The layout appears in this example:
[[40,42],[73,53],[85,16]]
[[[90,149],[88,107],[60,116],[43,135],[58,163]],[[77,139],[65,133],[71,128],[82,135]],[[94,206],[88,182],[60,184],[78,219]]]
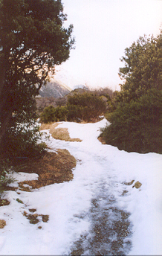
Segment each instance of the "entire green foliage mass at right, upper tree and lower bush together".
[[110,125],[101,136],[120,150],[162,153],[161,149],[161,54],[160,39],[146,37],[126,48],[126,79],[114,97],[114,111],[106,118]]

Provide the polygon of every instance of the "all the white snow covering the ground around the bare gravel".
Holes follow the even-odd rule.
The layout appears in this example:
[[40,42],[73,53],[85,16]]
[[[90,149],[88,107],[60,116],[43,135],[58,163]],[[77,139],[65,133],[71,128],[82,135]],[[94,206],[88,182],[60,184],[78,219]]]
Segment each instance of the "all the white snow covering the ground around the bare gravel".
[[[50,138],[45,137],[45,141],[54,152],[59,148],[67,149],[77,159],[74,179],[33,192],[18,189],[4,194],[10,205],[0,208],[0,220],[7,223],[1,229],[0,255],[69,255],[81,235],[86,237],[87,243],[93,239],[93,223],[102,220],[103,210],[106,214],[109,209],[108,225],[115,221],[118,215],[113,215],[110,206],[130,213],[132,235],[125,241],[131,240],[132,246],[124,251],[126,255],[162,254],[161,155],[127,153],[101,144],[97,137],[100,127],[105,125],[106,119],[95,124],[62,122],[56,127],[67,127],[71,138],[80,138],[82,142],[55,140],[46,130]],[[38,178],[29,173],[14,173],[14,177],[17,182]],[[132,180],[142,186],[137,189],[132,188],[135,182],[125,184]],[[123,191],[127,193],[123,195]],[[40,218],[39,223],[30,224],[23,212],[29,214],[31,208],[36,209],[36,214],[48,214],[48,223]],[[115,239],[116,234],[111,241]],[[83,246],[85,254],[91,255],[87,244]],[[106,243],[102,246],[100,249],[108,250]]]

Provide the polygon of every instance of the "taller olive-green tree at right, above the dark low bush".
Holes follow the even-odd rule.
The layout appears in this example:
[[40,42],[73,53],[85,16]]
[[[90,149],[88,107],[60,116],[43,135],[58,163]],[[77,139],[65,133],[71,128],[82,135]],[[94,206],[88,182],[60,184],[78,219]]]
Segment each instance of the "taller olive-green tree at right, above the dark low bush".
[[126,48],[120,59],[125,66],[120,68],[120,77],[126,82],[121,86],[118,102],[136,100],[149,89],[161,89],[161,39],[146,36],[137,39]]

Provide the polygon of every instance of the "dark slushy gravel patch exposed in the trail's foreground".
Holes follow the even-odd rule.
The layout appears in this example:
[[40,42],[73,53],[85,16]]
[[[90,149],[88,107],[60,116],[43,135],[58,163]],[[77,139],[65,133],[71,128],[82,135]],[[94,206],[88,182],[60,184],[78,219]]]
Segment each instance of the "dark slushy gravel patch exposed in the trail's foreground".
[[[107,196],[107,195],[106,195]],[[108,197],[108,196],[107,196]],[[111,199],[111,202],[115,200]],[[129,213],[113,204],[100,207],[100,200],[91,200],[89,213],[75,216],[91,220],[88,232],[85,231],[71,246],[70,255],[127,255],[131,249],[132,225]]]

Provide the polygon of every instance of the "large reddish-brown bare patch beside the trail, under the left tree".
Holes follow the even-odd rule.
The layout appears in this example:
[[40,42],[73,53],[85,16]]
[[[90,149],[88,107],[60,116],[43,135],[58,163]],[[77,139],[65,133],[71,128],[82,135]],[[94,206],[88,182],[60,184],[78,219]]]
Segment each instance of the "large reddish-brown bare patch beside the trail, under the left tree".
[[[25,173],[37,173],[38,180],[19,182],[22,191],[31,191],[54,183],[68,182],[73,179],[72,169],[76,167],[76,159],[68,150],[57,150],[57,153],[45,152],[40,159],[20,159],[19,170]],[[25,187],[29,185],[30,187]]]

